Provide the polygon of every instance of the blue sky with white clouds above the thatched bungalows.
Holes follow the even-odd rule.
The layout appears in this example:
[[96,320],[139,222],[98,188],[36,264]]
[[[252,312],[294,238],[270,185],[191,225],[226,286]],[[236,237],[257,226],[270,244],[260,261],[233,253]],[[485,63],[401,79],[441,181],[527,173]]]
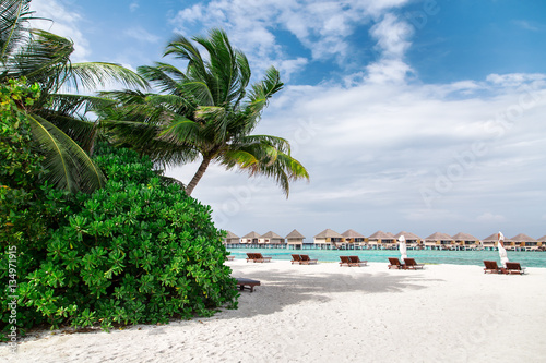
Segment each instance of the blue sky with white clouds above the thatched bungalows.
[[[34,0],[36,26],[72,61],[132,70],[176,34],[224,28],[254,81],[285,83],[256,134],[282,136],[310,180],[290,185],[212,166],[192,196],[242,237],[330,228],[546,234],[543,0]],[[198,165],[166,173],[188,183]]]

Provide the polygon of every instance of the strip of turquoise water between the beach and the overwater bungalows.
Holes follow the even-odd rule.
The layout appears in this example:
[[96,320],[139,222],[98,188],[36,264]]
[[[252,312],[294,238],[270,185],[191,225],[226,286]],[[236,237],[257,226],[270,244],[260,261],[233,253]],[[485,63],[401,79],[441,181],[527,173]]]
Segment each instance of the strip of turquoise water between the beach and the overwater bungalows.
[[[247,252],[260,252],[275,259],[292,259],[292,254],[308,254],[323,262],[340,262],[340,256],[359,256],[369,262],[388,263],[388,257],[399,257],[396,250],[275,250],[275,249],[227,249],[235,258],[246,258]],[[451,264],[483,266],[484,259],[500,263],[497,251],[431,251],[410,250],[407,256],[424,264]],[[508,258],[519,262],[522,267],[546,267],[546,252],[509,251]]]

